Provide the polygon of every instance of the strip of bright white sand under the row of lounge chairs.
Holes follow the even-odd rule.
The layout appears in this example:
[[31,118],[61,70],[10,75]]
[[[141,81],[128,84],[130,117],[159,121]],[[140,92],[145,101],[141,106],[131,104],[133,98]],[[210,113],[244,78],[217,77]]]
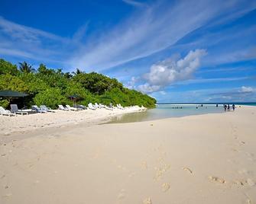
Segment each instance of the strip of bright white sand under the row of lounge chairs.
[[63,127],[81,122],[88,123],[88,125],[99,124],[102,123],[102,121],[109,120],[112,116],[144,110],[145,108],[134,106],[125,107],[124,110],[118,108],[115,108],[114,110],[106,110],[105,108],[79,111],[54,110],[55,113],[49,112],[23,116],[20,114],[17,114],[17,116],[0,116],[0,135],[10,135],[13,132],[25,132],[42,127]]

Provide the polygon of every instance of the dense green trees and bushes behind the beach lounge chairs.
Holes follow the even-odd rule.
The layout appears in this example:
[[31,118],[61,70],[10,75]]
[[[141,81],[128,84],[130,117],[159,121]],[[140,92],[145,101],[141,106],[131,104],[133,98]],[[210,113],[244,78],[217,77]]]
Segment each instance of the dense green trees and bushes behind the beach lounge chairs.
[[[122,104],[122,106],[143,105],[155,107],[156,100],[147,94],[125,88],[115,78],[96,72],[86,73],[79,69],[63,72],[39,65],[34,69],[27,62],[17,65],[0,59],[0,91],[21,91],[29,94],[24,104],[47,105],[56,108],[58,104],[73,104],[70,95],[80,97],[79,104],[91,103]],[[8,100],[0,98],[0,106],[8,107]]]

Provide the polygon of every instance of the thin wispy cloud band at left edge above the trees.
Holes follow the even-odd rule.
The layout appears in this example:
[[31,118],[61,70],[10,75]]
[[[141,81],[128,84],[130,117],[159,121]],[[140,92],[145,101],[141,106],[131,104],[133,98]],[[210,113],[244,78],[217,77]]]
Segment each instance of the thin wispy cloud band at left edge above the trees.
[[59,62],[65,58],[72,40],[34,29],[0,17],[0,53],[41,62]]

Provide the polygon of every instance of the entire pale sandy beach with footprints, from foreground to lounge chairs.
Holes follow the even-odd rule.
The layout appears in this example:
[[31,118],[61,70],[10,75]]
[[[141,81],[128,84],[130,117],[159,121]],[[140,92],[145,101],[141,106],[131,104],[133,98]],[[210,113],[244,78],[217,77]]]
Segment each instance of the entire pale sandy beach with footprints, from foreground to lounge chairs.
[[256,203],[256,107],[87,126],[96,111],[0,117],[0,203]]

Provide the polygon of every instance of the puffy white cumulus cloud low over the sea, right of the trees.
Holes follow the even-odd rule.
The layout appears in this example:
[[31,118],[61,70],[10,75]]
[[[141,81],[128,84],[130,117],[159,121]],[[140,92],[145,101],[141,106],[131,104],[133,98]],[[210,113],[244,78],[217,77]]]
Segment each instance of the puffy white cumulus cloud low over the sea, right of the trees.
[[196,49],[190,51],[183,59],[170,58],[152,65],[150,72],[144,75],[147,82],[138,86],[138,89],[151,93],[176,81],[192,78],[193,73],[199,68],[200,59],[205,55],[205,49]]

